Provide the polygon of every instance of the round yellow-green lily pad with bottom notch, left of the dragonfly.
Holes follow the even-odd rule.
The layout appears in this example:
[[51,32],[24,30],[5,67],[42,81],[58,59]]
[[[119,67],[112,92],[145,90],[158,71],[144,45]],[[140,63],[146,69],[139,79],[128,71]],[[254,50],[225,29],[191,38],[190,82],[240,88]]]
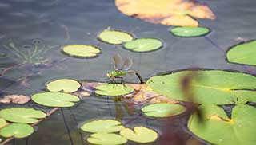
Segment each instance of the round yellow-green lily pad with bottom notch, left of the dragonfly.
[[71,79],[60,79],[53,80],[50,83],[46,84],[46,88],[50,92],[76,92],[80,88],[81,84],[76,80]]

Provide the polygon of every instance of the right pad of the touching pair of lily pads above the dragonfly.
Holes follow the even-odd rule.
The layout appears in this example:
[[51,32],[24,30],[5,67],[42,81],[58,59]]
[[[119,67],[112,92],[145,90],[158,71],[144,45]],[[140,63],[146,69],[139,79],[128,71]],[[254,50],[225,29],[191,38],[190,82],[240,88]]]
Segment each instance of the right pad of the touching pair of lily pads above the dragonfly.
[[129,49],[134,52],[150,52],[162,47],[162,41],[155,38],[138,38],[134,41],[126,42],[125,49]]

